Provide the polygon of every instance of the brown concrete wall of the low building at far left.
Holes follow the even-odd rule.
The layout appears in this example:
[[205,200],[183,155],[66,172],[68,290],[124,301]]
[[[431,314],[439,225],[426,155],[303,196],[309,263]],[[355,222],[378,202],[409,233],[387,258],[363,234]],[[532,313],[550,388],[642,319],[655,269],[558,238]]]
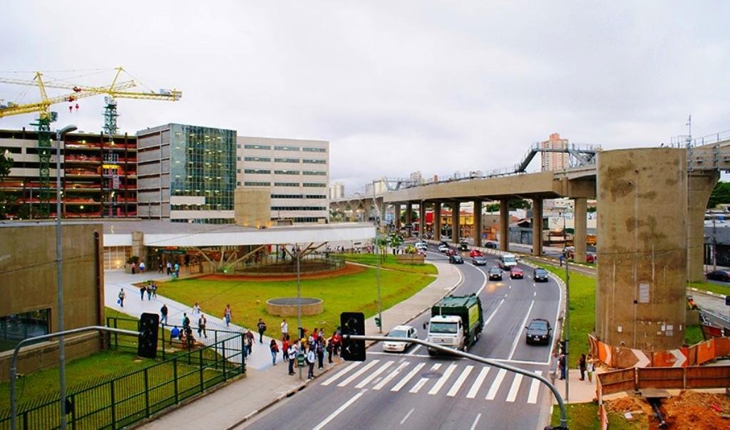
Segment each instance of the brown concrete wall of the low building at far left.
[[[98,239],[95,232],[99,233]],[[64,224],[62,229],[64,329],[104,325],[104,271],[101,224]],[[53,223],[0,227],[0,316],[50,309],[50,332],[58,331]],[[99,351],[99,335],[67,339],[66,358]],[[12,351],[0,353],[0,379],[7,380]],[[55,342],[23,348],[18,372],[58,363]]]

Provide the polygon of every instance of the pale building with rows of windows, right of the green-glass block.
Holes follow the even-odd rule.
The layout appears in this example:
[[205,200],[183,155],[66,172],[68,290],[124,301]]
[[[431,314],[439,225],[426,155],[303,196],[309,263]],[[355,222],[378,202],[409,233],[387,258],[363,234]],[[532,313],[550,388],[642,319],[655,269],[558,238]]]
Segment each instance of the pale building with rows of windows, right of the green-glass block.
[[329,142],[238,136],[237,185],[271,189],[273,222],[326,222]]

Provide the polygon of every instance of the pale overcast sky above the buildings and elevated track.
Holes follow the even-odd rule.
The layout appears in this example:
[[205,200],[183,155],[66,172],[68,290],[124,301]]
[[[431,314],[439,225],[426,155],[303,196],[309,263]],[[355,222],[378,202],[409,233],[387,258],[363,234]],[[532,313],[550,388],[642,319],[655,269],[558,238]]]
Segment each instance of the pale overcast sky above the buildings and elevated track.
[[[506,168],[550,133],[618,149],[669,144],[689,115],[695,137],[730,130],[727,1],[6,0],[0,16],[0,77],[103,85],[123,66],[183,99],[120,99],[121,132],[326,140],[347,194]],[[0,103],[38,99],[0,83]],[[103,97],[78,103],[55,127],[98,133]]]

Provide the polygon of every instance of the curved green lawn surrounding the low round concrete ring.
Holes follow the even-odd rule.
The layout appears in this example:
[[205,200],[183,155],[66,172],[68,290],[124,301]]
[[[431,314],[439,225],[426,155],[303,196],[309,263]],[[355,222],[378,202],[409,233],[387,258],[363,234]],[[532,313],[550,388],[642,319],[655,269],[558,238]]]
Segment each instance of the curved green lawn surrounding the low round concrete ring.
[[[344,311],[377,313],[377,282],[374,268],[363,273],[337,278],[305,279],[301,281],[301,297],[324,300],[324,312],[317,316],[302,316],[304,327],[323,327],[332,332],[339,326],[339,314]],[[396,270],[380,270],[383,309],[388,309],[434,281],[433,276]],[[160,284],[161,294],[177,302],[193,305],[199,302],[204,313],[223,315],[226,303],[233,310],[232,321],[255,329],[258,318],[268,324],[267,335],[279,333],[280,317],[266,313],[266,300],[274,297],[296,297],[296,281],[206,281],[182,279]],[[289,332],[296,330],[296,316],[287,318]]]

